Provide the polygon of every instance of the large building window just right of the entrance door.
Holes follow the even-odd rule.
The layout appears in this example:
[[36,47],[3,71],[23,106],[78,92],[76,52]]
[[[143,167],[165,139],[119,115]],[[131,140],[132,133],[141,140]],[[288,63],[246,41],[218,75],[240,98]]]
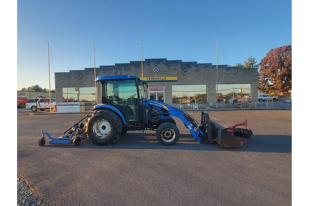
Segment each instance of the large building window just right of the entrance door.
[[173,85],[173,103],[207,102],[207,85]]

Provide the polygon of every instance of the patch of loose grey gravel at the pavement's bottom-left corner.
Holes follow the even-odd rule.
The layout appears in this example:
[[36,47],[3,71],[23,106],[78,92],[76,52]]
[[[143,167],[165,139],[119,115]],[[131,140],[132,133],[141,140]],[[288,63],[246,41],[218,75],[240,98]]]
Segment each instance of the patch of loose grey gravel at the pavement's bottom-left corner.
[[45,206],[46,202],[35,195],[28,184],[17,177],[17,206]]

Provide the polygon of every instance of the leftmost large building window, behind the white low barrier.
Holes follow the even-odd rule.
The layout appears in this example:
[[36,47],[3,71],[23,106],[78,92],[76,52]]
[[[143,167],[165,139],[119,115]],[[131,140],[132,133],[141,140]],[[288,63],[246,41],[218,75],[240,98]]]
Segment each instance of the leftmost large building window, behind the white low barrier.
[[63,102],[95,103],[95,87],[64,87],[62,88]]

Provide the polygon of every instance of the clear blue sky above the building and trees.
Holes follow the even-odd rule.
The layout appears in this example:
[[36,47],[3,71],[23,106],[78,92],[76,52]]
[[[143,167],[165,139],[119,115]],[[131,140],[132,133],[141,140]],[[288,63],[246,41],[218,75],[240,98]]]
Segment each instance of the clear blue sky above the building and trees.
[[[143,58],[234,65],[291,44],[291,1],[18,1],[17,88],[53,72]],[[54,68],[53,68],[54,62]]]

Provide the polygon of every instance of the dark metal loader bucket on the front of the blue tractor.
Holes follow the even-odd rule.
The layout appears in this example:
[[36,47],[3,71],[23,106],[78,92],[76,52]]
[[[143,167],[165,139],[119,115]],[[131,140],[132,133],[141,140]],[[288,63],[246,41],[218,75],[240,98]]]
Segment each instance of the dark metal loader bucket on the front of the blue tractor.
[[201,126],[199,128],[201,128],[204,133],[204,136],[201,137],[202,144],[217,142],[220,147],[236,147],[243,145],[243,142],[237,139],[233,131],[210,120],[209,114],[205,111],[202,111]]

